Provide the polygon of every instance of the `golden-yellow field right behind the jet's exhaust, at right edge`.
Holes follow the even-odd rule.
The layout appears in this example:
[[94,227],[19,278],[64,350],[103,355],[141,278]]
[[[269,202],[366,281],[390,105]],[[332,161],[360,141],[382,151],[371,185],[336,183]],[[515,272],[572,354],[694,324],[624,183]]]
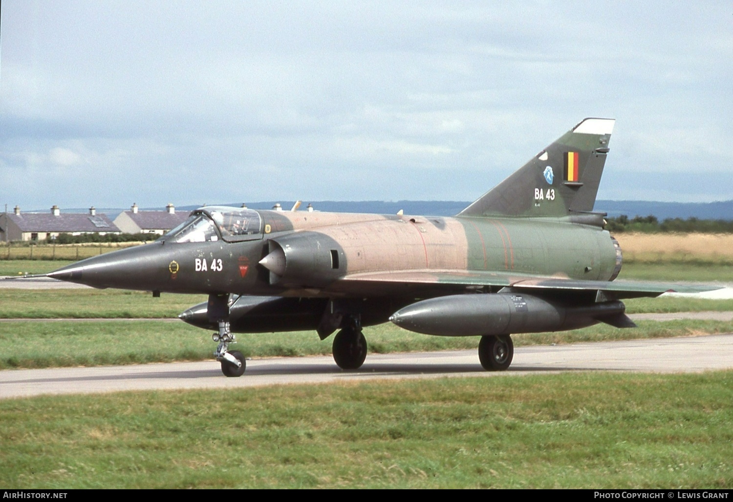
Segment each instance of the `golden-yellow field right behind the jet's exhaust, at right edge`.
[[618,233],[624,261],[733,263],[733,234]]

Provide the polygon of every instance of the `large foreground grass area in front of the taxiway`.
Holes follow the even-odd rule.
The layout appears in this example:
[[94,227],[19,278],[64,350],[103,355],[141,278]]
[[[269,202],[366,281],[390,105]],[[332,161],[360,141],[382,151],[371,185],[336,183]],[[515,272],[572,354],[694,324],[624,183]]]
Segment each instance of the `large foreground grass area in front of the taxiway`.
[[733,372],[0,401],[7,488],[733,486]]

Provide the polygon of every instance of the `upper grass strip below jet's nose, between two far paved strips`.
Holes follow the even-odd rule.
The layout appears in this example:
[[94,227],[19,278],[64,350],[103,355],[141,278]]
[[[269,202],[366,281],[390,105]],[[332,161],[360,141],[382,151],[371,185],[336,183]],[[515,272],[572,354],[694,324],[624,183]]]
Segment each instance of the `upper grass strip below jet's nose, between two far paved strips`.
[[4,289],[0,288],[0,319],[15,318],[175,318],[205,302],[202,294],[162,294],[122,289]]

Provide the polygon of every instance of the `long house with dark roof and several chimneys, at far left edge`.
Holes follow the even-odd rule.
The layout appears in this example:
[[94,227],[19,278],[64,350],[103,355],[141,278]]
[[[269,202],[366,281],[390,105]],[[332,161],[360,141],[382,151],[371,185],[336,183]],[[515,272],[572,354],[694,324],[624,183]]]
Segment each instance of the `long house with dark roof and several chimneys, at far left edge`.
[[0,214],[2,241],[43,241],[55,239],[59,233],[79,236],[83,233],[122,233],[106,214],[97,214],[92,206],[89,213],[62,214],[58,205],[50,213],[21,213],[17,205],[12,213]]

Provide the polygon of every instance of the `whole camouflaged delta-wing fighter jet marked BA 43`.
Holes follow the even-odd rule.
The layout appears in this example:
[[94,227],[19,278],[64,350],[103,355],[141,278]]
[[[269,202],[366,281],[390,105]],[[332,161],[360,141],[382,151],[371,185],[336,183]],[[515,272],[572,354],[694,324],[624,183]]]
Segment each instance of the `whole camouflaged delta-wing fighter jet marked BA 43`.
[[[614,282],[618,241],[593,212],[614,120],[586,118],[455,217],[207,206],[158,241],[48,274],[95,288],[208,294],[180,319],[216,330],[227,377],[235,333],[314,330],[345,370],[367,357],[362,327],[480,336],[489,371],[512,333],[635,324],[621,301],[710,288]],[[295,209],[295,208],[294,208]]]

